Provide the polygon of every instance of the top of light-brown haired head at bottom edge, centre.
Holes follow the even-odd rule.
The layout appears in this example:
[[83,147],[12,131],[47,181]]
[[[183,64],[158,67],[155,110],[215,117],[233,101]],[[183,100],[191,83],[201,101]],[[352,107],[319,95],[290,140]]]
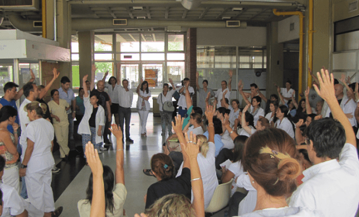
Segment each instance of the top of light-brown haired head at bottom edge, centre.
[[191,201],[183,194],[168,194],[146,210],[148,217],[196,217]]

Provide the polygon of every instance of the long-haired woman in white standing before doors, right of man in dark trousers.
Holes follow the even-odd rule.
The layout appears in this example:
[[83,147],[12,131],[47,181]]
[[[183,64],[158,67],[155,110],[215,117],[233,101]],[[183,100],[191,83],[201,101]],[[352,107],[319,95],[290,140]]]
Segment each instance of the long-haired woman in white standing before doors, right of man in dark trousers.
[[137,90],[138,99],[137,99],[137,111],[140,116],[141,121],[141,136],[147,137],[147,117],[150,112],[150,102],[151,92],[149,90],[149,83],[141,79],[141,83],[138,85]]

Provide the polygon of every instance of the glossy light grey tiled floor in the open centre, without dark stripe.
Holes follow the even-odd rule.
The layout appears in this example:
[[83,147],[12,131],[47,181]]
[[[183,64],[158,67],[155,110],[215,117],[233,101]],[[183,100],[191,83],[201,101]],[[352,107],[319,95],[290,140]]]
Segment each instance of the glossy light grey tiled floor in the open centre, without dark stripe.
[[[146,176],[142,170],[150,168],[151,156],[162,151],[161,146],[165,140],[161,136],[160,118],[153,118],[152,113],[149,114],[147,121],[148,137],[141,138],[139,129],[139,116],[137,113],[132,113],[130,132],[134,144],[131,144],[129,150],[126,150],[124,154],[127,189],[124,209],[128,217],[133,217],[135,213],[141,213],[145,209],[144,195],[147,193],[148,187],[156,182],[156,179]],[[115,142],[114,138],[113,141]],[[110,166],[115,171],[115,151],[104,151],[100,154],[100,158],[104,165]],[[56,201],[56,207],[63,206],[64,208],[61,217],[79,217],[77,202],[86,197],[90,172],[90,168],[85,166]],[[223,214],[224,211],[221,211],[214,217],[223,217]]]

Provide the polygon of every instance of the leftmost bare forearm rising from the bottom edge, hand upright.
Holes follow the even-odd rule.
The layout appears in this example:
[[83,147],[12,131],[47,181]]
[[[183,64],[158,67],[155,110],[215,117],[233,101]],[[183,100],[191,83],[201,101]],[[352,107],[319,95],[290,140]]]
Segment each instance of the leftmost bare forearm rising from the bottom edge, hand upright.
[[105,217],[105,185],[103,183],[103,167],[100,158],[98,157],[97,149],[94,150],[91,142],[86,144],[85,155],[87,162],[92,171],[92,203],[90,217]]

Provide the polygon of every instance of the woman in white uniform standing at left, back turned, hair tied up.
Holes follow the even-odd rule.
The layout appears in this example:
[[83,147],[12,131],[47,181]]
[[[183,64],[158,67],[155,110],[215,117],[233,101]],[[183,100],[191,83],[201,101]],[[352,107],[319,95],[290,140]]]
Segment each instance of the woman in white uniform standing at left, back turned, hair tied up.
[[25,155],[19,174],[25,176],[30,203],[43,211],[44,217],[51,217],[55,211],[51,188],[51,169],[55,165],[52,156],[54,127],[42,118],[47,109],[44,103],[30,102],[25,109],[30,123],[26,127],[27,147],[23,150]]

